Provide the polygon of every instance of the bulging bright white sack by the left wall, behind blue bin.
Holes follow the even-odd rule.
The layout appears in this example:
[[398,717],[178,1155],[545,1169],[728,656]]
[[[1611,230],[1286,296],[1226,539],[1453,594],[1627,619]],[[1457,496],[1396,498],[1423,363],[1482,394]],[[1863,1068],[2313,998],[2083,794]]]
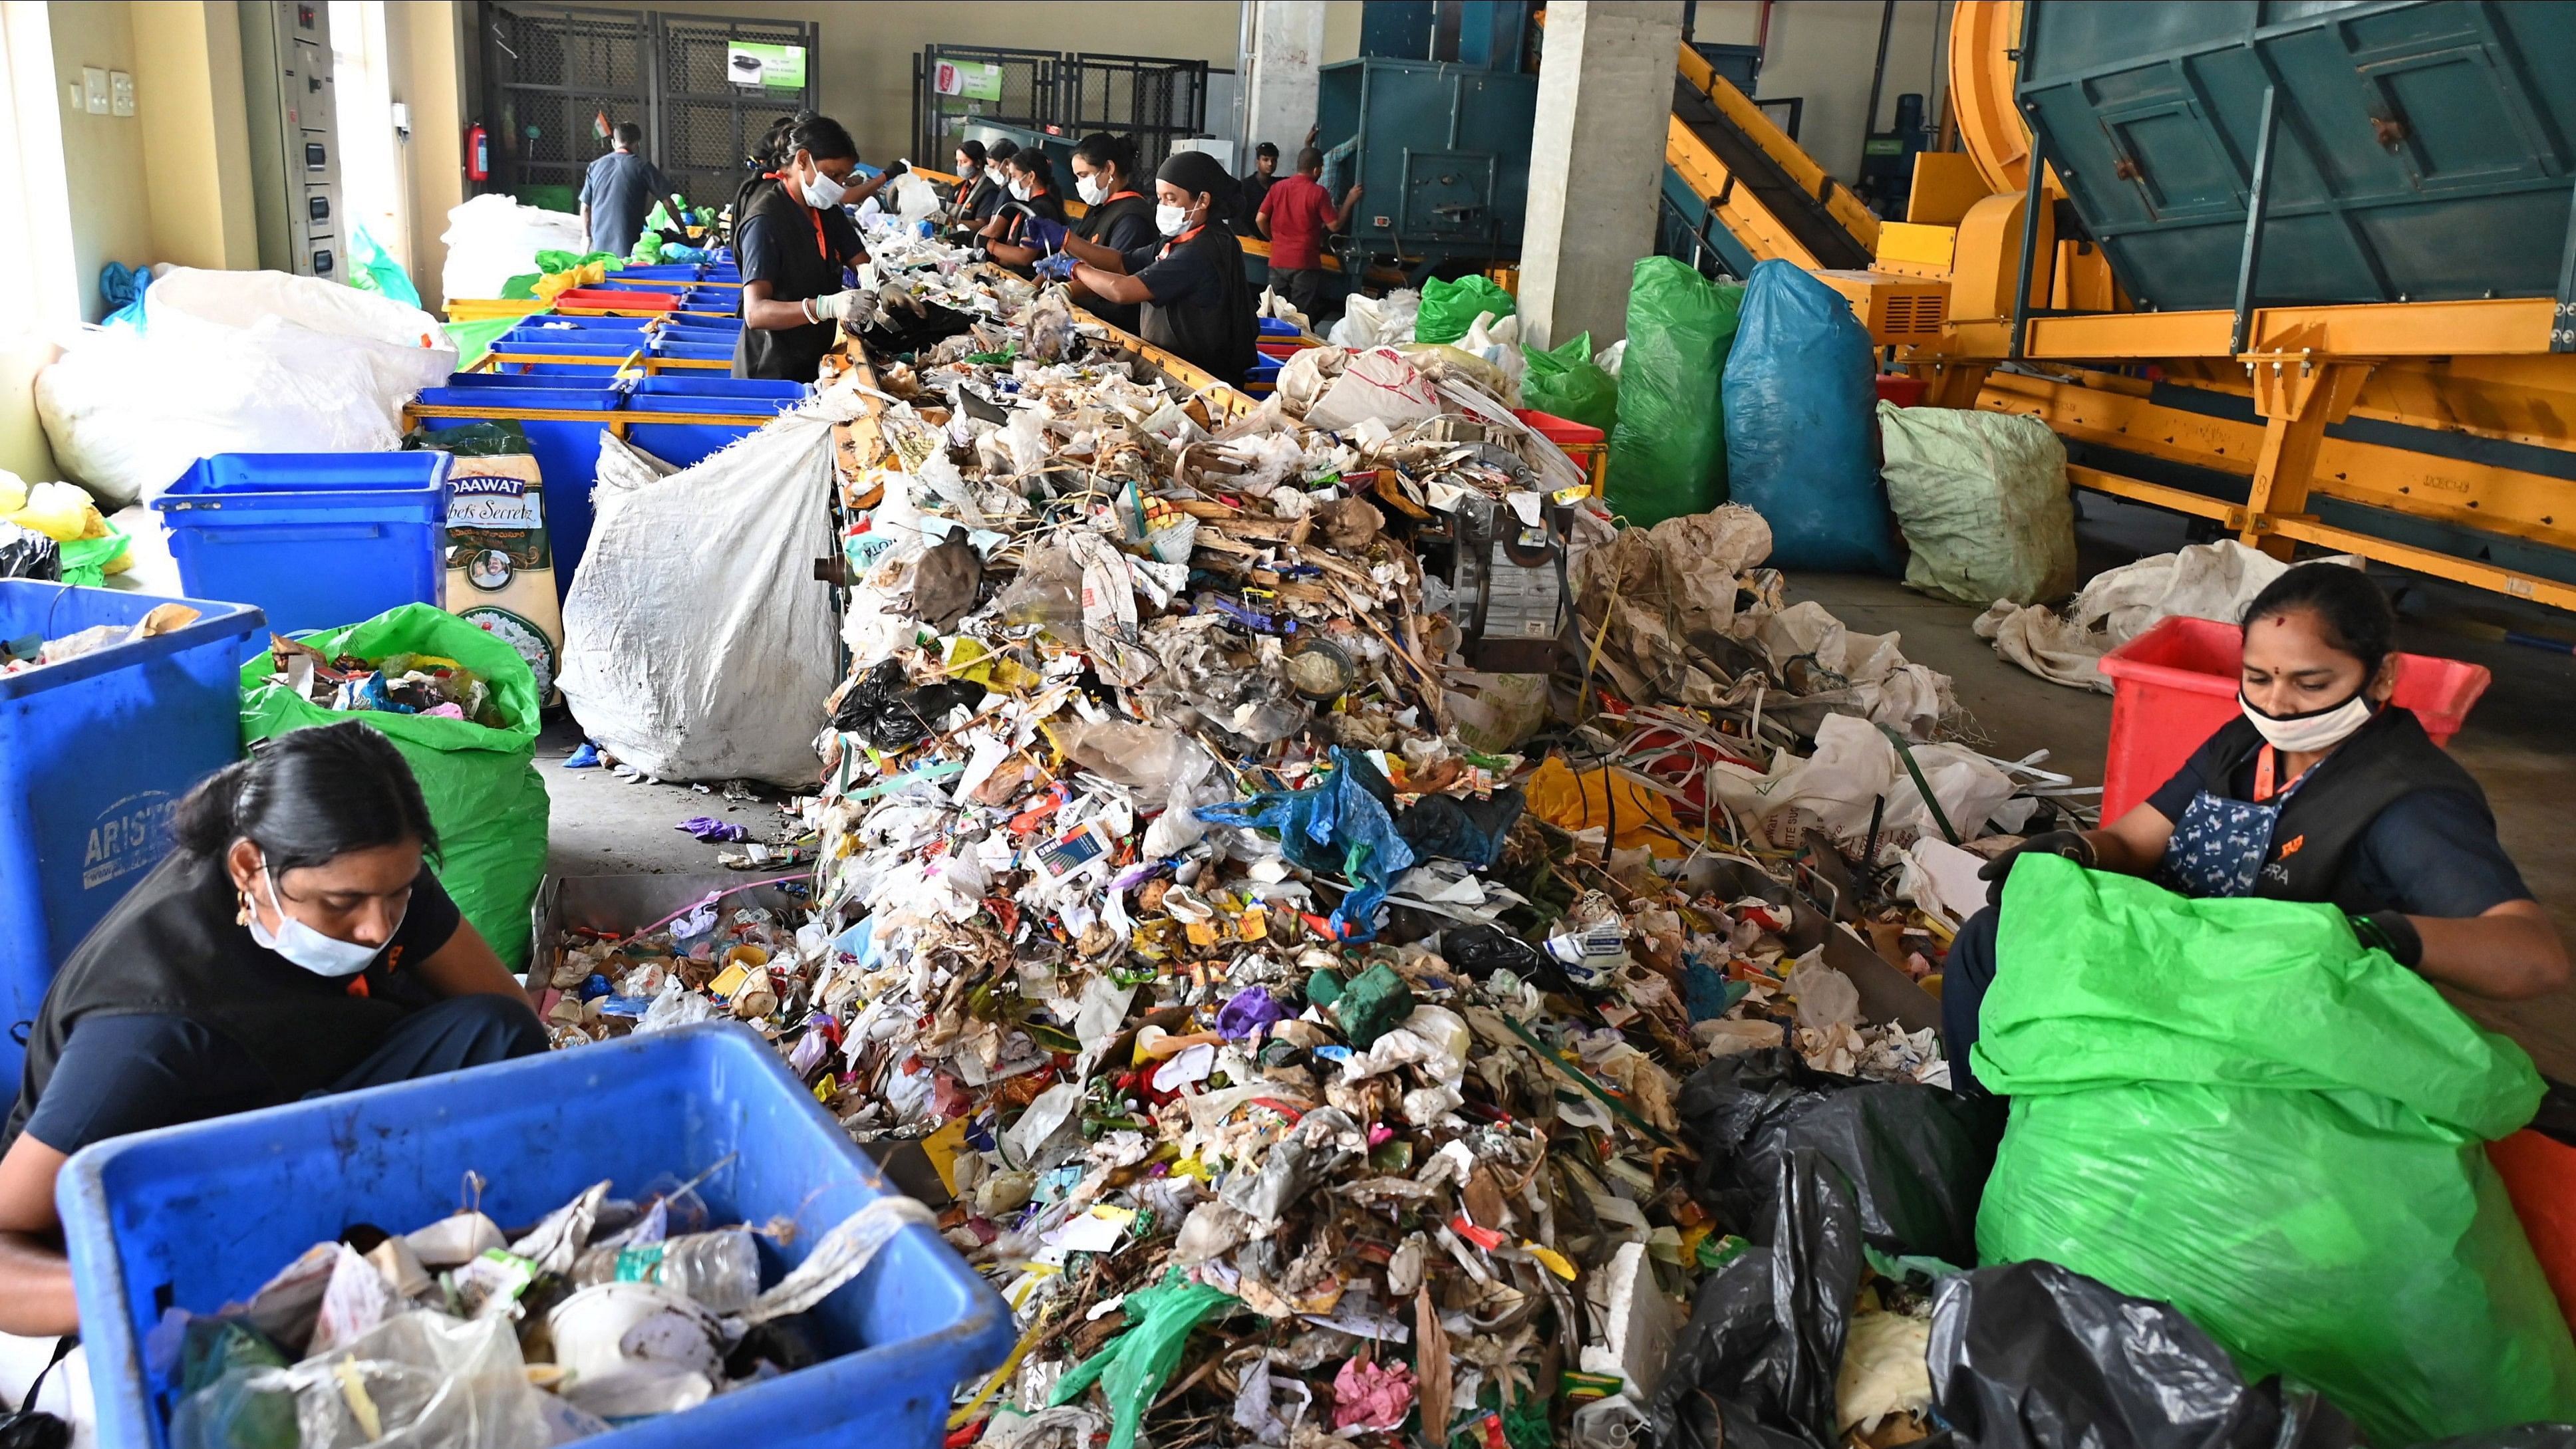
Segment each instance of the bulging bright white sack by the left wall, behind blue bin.
[[402,404],[456,371],[428,311],[286,273],[173,268],[144,329],[82,329],[36,414],[64,476],[118,510],[214,453],[376,453]]

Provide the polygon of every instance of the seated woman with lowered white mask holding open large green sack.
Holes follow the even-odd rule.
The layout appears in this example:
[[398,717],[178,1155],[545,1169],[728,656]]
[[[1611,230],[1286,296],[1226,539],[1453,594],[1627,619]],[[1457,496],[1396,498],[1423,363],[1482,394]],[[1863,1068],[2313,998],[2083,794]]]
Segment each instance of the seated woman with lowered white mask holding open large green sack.
[[2200,901],[2342,906],[2365,947],[2470,996],[2561,991],[2566,942],[2496,842],[2478,782],[2414,710],[2391,708],[2396,613],[2360,569],[2300,564],[2244,615],[2241,718],[2146,803],[2097,831],[2043,831],[1978,870],[1986,909],[1942,970],[1950,1081],[1994,983],[2004,880],[2025,854],[2151,878]]

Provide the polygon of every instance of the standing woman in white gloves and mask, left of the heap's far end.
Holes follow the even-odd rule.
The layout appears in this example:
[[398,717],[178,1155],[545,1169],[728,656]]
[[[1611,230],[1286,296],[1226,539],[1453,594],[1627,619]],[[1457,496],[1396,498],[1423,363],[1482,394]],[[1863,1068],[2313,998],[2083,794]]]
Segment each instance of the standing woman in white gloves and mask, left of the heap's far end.
[[837,337],[876,317],[876,296],[842,286],[842,268],[868,260],[845,206],[876,196],[904,175],[894,162],[850,185],[858,144],[829,116],[799,116],[778,142],[778,170],[744,183],[734,198],[734,257],[742,263],[742,340],[737,378],[811,383]]

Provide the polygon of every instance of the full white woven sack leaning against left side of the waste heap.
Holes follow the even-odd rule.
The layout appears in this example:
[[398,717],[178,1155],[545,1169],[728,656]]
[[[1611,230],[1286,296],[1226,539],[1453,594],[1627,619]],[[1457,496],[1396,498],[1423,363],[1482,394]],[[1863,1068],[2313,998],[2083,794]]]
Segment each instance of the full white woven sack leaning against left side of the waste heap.
[[817,777],[840,641],[814,558],[832,556],[835,394],[696,468],[662,474],[600,435],[556,685],[582,731],[662,780]]

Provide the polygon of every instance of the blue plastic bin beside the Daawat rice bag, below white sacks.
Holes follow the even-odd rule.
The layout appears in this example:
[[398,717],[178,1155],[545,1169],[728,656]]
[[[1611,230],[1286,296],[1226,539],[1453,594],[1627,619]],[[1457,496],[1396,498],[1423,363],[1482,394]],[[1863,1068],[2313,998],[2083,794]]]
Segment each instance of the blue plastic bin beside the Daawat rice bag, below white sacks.
[[337,628],[438,602],[448,463],[446,453],[219,453],[152,507],[188,597],[258,605],[281,633]]

